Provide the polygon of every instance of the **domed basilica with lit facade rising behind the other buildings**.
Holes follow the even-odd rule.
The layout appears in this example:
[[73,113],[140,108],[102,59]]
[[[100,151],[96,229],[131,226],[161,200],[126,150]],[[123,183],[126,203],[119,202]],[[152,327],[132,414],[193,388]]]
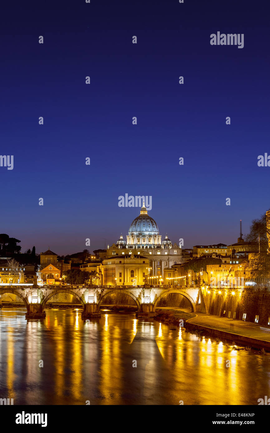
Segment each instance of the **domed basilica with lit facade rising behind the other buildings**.
[[127,241],[121,234],[116,244],[107,249],[107,258],[131,254],[141,254],[149,260],[148,277],[153,283],[164,277],[165,268],[182,263],[182,249],[176,243],[172,244],[167,235],[162,240],[157,223],[148,215],[144,202],[140,215],[130,224]]

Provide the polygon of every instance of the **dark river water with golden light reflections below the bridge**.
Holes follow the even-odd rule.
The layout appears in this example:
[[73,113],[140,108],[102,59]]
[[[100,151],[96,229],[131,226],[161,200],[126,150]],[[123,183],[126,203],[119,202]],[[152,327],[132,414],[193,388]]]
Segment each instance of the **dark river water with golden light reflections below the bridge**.
[[85,322],[76,309],[46,309],[43,321],[25,312],[0,309],[0,398],[14,404],[257,405],[270,396],[270,356],[134,313]]

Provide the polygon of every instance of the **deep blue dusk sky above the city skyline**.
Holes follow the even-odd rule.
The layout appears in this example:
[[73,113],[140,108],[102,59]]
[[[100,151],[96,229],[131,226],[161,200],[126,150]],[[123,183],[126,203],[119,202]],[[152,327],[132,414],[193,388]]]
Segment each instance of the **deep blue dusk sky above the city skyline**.
[[[0,154],[14,168],[0,167],[0,233],[22,251],[104,248],[139,214],[118,207],[125,193],[152,195],[163,238],[184,248],[236,242],[240,219],[247,233],[270,207],[270,167],[257,166],[270,154],[269,12],[266,0],[2,3]],[[211,46],[218,31],[244,33],[244,48]]]

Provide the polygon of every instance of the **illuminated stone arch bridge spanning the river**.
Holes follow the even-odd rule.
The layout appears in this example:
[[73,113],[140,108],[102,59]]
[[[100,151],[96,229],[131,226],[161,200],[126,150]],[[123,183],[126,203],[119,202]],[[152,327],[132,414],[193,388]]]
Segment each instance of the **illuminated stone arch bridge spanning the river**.
[[[156,305],[160,298],[170,293],[178,293],[187,298],[191,304],[192,311],[198,311],[199,289],[198,288],[102,288],[102,287],[82,287],[73,288],[72,286],[49,286],[44,287],[23,287],[22,285],[0,286],[0,295],[13,293],[21,298],[26,306],[26,319],[36,319],[46,317],[44,308],[50,298],[59,293],[69,293],[80,301],[83,312],[82,318],[100,317],[100,305],[104,298],[109,294],[121,293],[130,296],[137,304],[137,317],[155,316]],[[1,302],[1,301],[0,301]],[[1,304],[0,304],[1,306]]]

